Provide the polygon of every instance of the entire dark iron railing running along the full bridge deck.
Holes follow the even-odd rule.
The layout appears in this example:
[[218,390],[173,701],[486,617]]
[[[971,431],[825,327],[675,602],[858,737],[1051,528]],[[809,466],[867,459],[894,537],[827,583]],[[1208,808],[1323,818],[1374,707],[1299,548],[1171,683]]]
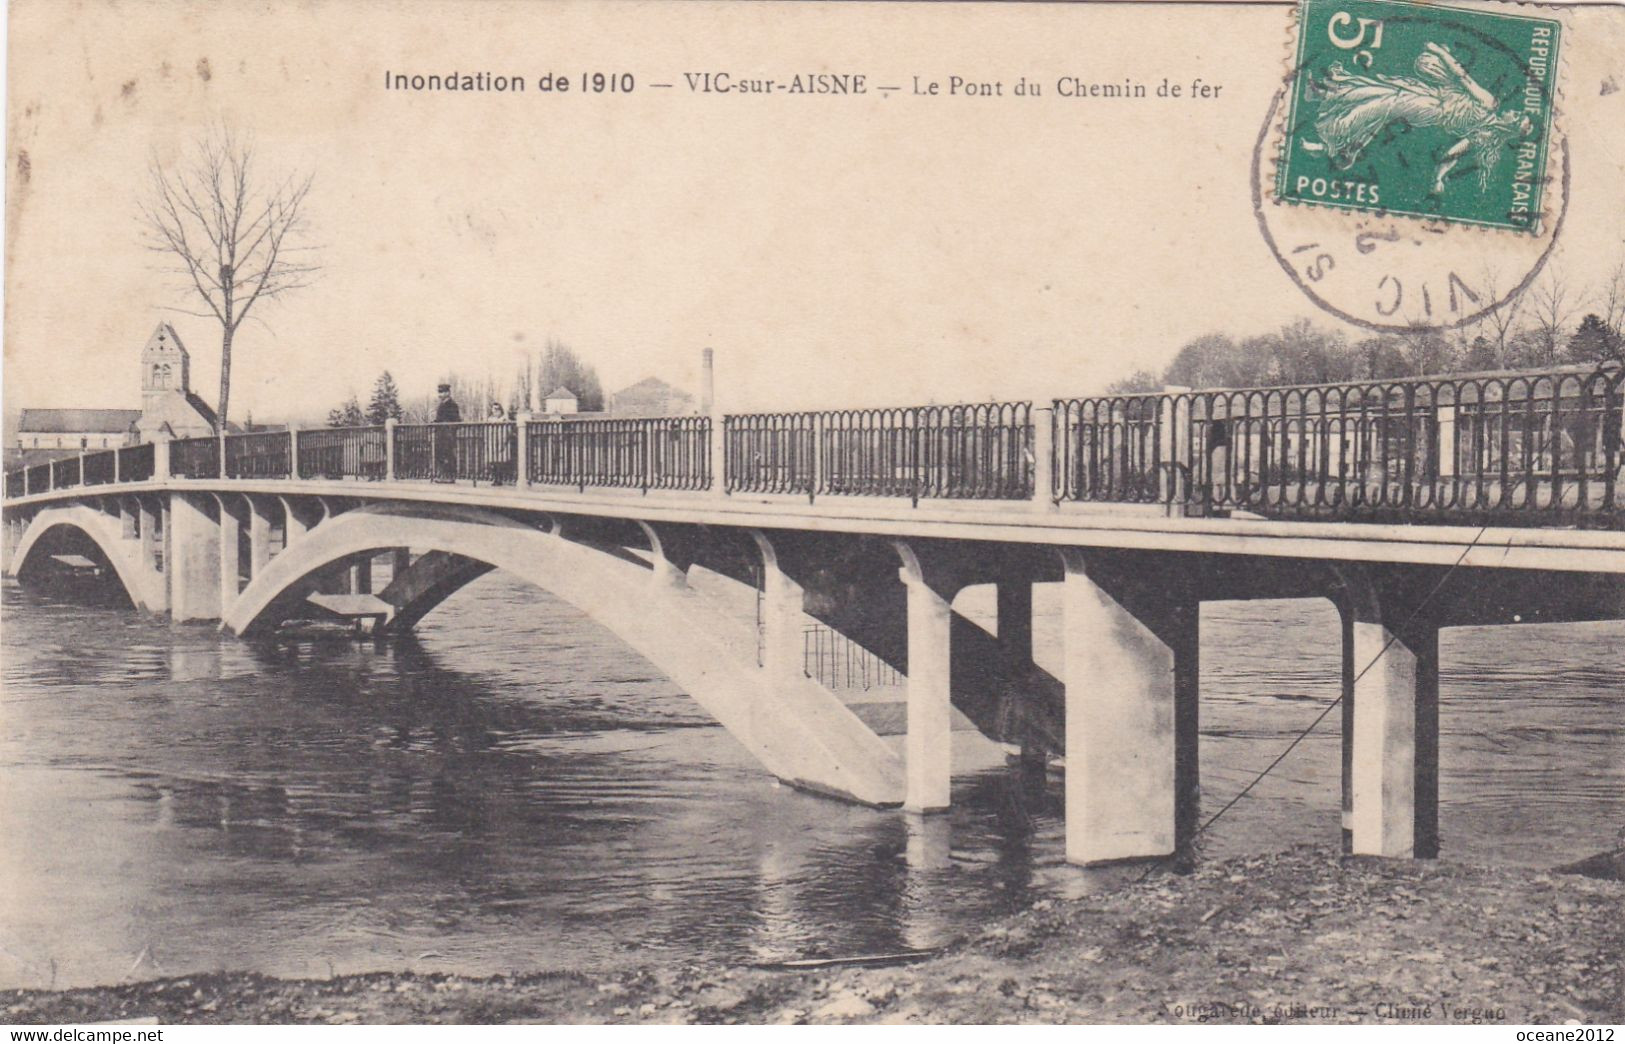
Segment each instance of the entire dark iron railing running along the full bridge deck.
[[[1555,368],[1029,403],[531,421],[536,485],[1141,504],[1188,515],[1625,529],[1625,369]],[[1045,423],[1045,421],[1038,421]],[[302,478],[385,478],[387,428],[301,433]],[[1037,434],[1051,449],[1038,462]],[[515,423],[400,424],[403,480],[512,483]],[[224,442],[228,478],[288,475],[289,434]],[[83,463],[81,463],[83,460]],[[114,472],[117,462],[117,472]],[[1046,468],[1040,468],[1043,463]],[[717,472],[722,472],[717,475]],[[1048,470],[1045,489],[1037,475]],[[219,478],[221,441],[169,442],[169,473]],[[6,496],[146,481],[154,447],[6,475]]]

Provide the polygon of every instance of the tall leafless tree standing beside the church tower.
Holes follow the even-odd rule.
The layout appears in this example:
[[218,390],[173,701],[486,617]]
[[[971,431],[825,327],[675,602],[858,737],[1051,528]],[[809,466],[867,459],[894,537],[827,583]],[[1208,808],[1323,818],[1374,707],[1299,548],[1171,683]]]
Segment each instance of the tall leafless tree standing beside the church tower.
[[216,128],[172,164],[154,158],[151,177],[140,203],[146,247],[177,262],[187,291],[208,306],[188,314],[219,322],[216,431],[226,431],[237,330],[255,304],[309,286],[318,272],[301,242],[312,176],[262,176],[252,145]]

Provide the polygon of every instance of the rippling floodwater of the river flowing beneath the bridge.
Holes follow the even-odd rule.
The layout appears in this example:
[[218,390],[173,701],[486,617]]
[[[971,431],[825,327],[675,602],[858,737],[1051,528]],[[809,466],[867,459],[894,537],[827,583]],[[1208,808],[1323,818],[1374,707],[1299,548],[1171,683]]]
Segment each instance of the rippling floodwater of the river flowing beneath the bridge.
[[[1040,590],[1050,663],[1053,610]],[[10,581],[0,628],[0,987],[876,953],[1116,880],[1064,863],[1060,784],[1024,792],[973,735],[947,816],[778,787],[500,574],[400,644],[257,646]],[[1337,654],[1326,603],[1204,607],[1204,811],[1336,698]],[[1625,623],[1454,629],[1441,659],[1445,857],[1620,844]],[[1337,732],[1334,711],[1204,855],[1336,844]]]

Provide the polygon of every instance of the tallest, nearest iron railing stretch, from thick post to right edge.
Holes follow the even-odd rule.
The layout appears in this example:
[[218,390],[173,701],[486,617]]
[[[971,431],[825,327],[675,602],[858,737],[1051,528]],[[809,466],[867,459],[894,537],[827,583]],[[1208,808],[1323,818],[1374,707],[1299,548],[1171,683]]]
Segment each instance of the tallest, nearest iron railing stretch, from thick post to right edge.
[[1055,403],[1060,501],[1186,514],[1618,525],[1620,371]]

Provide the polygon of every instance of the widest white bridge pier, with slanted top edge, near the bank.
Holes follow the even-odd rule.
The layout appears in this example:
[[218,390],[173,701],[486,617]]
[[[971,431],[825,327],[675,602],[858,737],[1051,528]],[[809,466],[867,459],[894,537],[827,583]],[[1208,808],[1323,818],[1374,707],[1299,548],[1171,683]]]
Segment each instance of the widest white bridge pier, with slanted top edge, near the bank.
[[1063,561],[1066,859],[1172,855],[1196,821],[1198,603],[1170,577]]

